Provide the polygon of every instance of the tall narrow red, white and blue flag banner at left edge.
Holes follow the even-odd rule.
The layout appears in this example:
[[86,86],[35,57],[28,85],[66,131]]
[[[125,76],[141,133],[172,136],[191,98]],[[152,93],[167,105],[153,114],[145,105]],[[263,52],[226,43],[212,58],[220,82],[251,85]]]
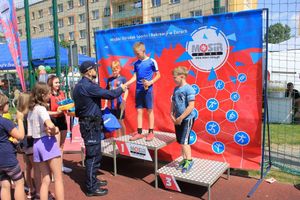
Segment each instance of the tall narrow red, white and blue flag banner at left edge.
[[11,56],[20,78],[22,90],[26,91],[16,8],[13,0],[0,0],[0,31],[4,33]]

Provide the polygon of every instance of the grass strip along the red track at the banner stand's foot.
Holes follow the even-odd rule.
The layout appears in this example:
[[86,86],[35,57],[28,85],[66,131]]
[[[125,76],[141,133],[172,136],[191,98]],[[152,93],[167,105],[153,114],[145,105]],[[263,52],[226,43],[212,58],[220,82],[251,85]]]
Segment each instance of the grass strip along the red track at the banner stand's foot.
[[[231,169],[230,174],[235,176],[251,177],[256,179],[260,178],[260,171],[254,171],[254,170]],[[272,177],[275,178],[280,183],[287,183],[292,185],[300,184],[300,176],[288,174],[274,167],[268,172],[267,176],[264,179],[268,179]]]

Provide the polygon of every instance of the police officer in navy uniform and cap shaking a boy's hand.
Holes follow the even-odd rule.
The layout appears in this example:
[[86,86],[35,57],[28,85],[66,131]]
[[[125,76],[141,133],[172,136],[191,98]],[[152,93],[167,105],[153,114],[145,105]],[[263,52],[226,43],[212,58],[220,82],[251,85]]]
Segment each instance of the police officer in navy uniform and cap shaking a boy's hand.
[[80,132],[85,144],[85,170],[86,170],[86,195],[103,196],[108,193],[101,186],[107,185],[106,180],[98,180],[96,175],[101,162],[101,132],[102,115],[101,99],[114,99],[119,97],[127,87],[115,90],[105,90],[94,82],[97,77],[96,67],[91,61],[85,61],[80,65],[82,79],[73,90],[75,102],[75,114],[79,118]]

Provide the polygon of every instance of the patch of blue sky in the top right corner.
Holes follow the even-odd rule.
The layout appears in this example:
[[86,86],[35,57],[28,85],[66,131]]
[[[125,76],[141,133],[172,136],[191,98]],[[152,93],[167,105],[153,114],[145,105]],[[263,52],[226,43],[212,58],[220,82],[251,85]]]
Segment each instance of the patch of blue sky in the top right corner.
[[258,8],[269,8],[270,24],[287,24],[292,36],[300,34],[300,0],[258,0]]

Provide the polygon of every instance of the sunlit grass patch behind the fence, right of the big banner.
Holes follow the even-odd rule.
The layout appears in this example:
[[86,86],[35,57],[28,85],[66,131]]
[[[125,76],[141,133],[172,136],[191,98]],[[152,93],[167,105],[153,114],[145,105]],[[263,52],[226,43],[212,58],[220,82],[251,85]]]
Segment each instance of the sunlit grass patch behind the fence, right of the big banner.
[[300,145],[300,125],[270,124],[271,144]]

